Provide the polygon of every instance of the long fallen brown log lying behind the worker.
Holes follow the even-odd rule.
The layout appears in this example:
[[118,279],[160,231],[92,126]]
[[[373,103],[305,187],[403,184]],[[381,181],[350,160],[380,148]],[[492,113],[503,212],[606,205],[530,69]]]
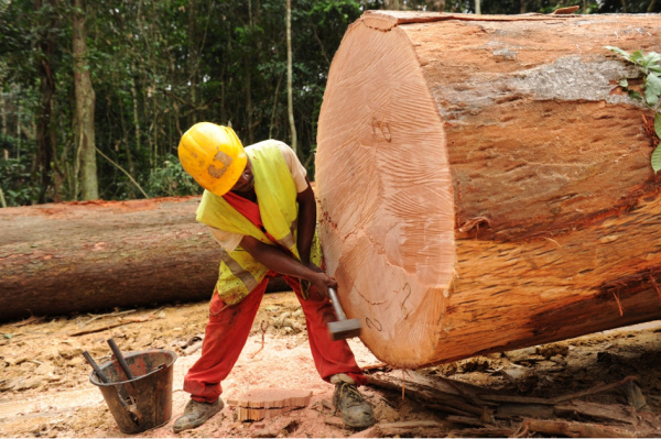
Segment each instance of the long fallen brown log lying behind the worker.
[[[219,246],[195,221],[198,204],[186,197],[0,209],[0,321],[210,298]],[[278,286],[269,289],[289,289]]]

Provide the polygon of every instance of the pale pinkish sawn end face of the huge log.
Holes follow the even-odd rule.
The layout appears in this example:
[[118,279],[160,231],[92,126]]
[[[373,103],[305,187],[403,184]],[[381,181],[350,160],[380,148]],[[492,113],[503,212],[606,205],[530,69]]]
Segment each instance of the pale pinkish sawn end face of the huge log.
[[[342,86],[329,83],[319,123],[319,139],[336,145],[316,158],[324,250],[350,297],[349,317],[372,329],[366,340],[415,347],[436,323],[454,275],[445,134],[407,35],[368,25],[349,32],[356,44],[335,56]],[[397,300],[383,309],[383,296]]]

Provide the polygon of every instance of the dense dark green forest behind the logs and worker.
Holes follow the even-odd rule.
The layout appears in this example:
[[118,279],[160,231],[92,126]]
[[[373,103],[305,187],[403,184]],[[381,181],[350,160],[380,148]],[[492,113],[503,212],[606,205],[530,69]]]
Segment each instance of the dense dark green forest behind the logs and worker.
[[657,0],[0,0],[0,205],[199,194],[192,124],[279,139],[314,175],[333,55],[366,10],[660,12]]

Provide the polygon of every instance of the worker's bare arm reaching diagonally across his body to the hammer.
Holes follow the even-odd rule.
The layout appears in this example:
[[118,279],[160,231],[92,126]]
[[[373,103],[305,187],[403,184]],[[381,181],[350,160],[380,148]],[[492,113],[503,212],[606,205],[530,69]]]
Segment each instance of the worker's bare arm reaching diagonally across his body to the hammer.
[[264,244],[252,237],[243,237],[239,245],[270,270],[310,281],[323,296],[328,296],[329,287],[337,288],[335,278],[299,262],[277,246]]

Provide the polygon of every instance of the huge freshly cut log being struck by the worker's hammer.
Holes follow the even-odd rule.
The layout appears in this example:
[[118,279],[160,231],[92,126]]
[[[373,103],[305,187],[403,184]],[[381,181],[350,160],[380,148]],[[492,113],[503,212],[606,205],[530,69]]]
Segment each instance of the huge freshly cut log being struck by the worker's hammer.
[[349,318],[418,367],[661,318],[652,113],[604,46],[661,17],[367,12],[318,123],[322,242]]

